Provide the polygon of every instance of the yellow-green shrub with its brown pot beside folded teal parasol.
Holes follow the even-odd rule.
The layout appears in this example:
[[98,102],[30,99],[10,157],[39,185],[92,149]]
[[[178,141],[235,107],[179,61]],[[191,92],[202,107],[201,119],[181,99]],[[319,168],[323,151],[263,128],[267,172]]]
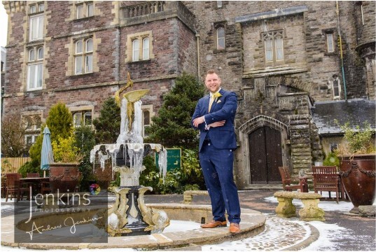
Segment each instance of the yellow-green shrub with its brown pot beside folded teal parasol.
[[55,162],[50,164],[50,184],[53,193],[73,193],[81,179],[78,171],[83,155],[80,149],[74,146],[74,135],[63,139],[57,137],[52,142]]

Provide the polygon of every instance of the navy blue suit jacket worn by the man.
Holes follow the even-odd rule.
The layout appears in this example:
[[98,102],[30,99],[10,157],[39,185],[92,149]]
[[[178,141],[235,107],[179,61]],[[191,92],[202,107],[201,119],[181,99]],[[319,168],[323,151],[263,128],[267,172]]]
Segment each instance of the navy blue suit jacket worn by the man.
[[[235,113],[237,110],[237,96],[235,92],[219,90],[222,94],[221,97],[214,100],[211,105],[209,113],[209,99],[210,95],[202,97],[196,105],[195,113],[193,113],[191,125],[195,130],[200,130],[200,145],[199,151],[201,151],[204,139],[208,138],[216,148],[221,149],[233,149],[237,148],[236,136],[235,136]],[[221,120],[225,120],[225,125],[221,127],[210,127],[209,130],[205,130],[205,123],[193,126],[193,120],[204,116],[207,125],[216,123]],[[208,136],[207,136],[208,135]]]

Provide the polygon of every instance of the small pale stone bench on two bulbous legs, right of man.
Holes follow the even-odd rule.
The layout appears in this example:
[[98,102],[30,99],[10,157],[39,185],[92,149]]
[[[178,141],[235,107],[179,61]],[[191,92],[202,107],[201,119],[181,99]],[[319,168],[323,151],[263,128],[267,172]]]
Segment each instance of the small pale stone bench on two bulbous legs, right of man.
[[300,221],[325,221],[324,211],[319,208],[321,195],[319,193],[298,193],[278,191],[274,193],[277,197],[278,206],[275,209],[277,216],[291,218],[296,216],[296,208],[293,205],[293,199],[301,200],[304,207],[299,210]]

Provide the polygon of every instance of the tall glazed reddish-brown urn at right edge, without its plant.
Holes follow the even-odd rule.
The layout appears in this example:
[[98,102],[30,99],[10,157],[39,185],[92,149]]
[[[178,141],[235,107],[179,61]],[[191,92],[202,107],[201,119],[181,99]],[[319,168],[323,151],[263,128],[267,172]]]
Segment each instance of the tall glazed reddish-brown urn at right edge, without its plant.
[[372,205],[375,201],[375,154],[340,157],[340,176],[354,208],[351,214],[358,214],[358,207]]

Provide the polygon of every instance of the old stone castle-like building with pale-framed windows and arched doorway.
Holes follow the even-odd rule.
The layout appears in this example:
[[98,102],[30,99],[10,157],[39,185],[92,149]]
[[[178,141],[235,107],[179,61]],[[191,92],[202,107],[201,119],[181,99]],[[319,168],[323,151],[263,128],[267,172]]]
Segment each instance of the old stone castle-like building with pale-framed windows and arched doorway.
[[91,124],[125,85],[150,89],[144,126],[183,71],[216,69],[238,95],[239,188],[281,184],[322,162],[340,123],[375,128],[375,1],[3,1],[4,113],[29,122],[51,106]]

